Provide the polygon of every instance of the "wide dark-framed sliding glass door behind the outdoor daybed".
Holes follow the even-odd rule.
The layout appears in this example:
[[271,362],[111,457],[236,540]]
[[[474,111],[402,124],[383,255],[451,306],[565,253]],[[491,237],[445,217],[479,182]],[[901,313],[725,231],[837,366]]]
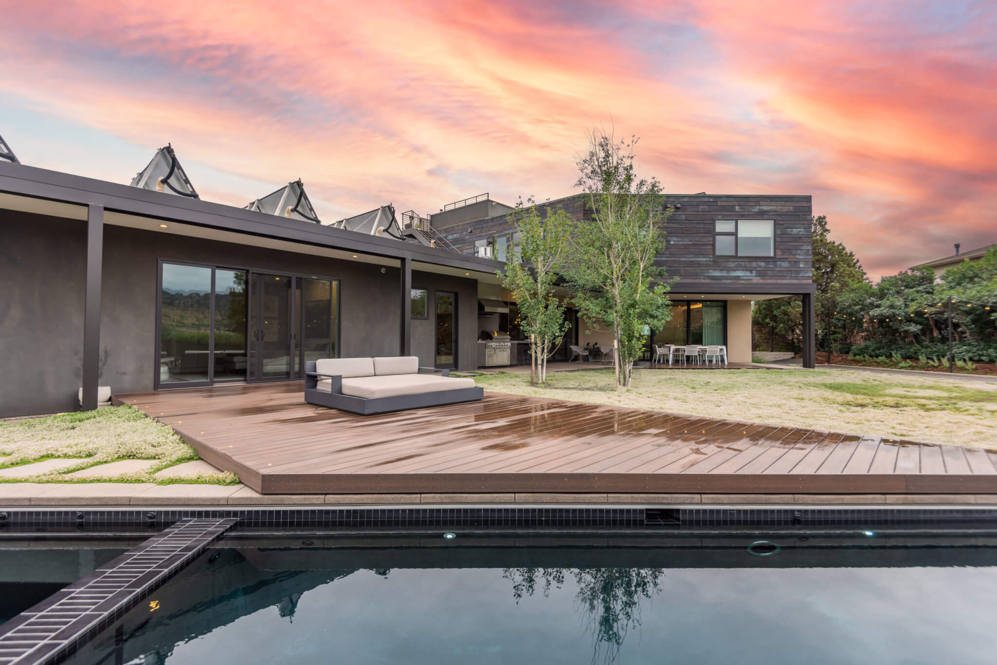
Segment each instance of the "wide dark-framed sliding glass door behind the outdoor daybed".
[[304,378],[339,356],[339,282],[162,261],[157,388]]

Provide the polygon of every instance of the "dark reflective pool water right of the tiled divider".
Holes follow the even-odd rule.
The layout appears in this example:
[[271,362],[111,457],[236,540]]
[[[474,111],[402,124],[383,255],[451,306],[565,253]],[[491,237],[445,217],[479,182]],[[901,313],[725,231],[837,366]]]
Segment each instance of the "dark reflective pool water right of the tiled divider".
[[68,662],[992,662],[997,537],[870,533],[232,532]]

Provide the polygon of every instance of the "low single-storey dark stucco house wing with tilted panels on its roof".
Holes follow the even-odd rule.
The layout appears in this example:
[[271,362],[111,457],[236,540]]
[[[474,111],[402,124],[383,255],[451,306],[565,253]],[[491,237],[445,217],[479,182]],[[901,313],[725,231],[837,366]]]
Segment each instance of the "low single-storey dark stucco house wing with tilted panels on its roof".
[[477,367],[479,284],[502,263],[393,237],[391,206],[318,218],[300,180],[246,208],[200,200],[168,146],[132,185],[0,160],[0,416],[325,357]]

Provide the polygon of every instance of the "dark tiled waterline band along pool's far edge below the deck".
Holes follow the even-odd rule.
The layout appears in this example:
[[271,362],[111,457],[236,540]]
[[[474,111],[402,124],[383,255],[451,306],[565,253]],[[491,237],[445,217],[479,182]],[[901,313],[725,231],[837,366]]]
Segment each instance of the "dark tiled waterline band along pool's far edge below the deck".
[[543,530],[702,526],[997,526],[997,506],[979,505],[371,505],[245,508],[19,508],[0,511],[0,536],[154,532],[182,519],[237,520],[235,530],[305,528],[404,531],[456,528]]

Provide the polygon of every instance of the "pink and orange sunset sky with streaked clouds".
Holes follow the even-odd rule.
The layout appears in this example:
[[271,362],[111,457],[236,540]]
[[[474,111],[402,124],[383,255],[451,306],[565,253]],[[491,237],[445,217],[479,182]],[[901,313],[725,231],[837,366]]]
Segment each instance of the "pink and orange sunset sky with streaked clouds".
[[676,193],[813,194],[873,278],[997,242],[997,2],[0,0],[0,135],[323,219],[557,198],[594,125]]

